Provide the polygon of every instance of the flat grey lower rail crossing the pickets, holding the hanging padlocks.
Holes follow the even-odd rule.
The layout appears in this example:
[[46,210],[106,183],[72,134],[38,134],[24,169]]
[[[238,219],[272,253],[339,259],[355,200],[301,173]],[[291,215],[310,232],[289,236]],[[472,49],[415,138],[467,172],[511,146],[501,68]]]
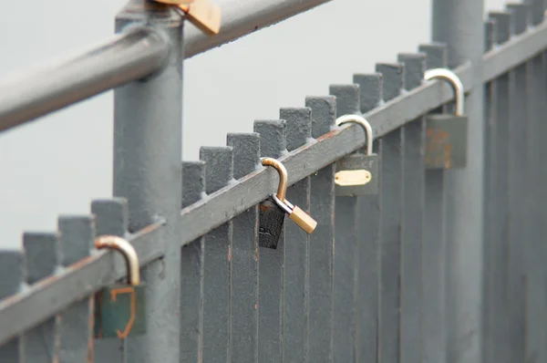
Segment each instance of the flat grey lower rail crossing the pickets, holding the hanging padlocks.
[[[125,37],[119,37],[119,39],[122,38]],[[485,68],[483,81],[497,78],[508,69],[538,54],[545,47],[547,47],[547,25],[545,24],[529,30],[522,36],[515,36],[501,47],[495,47],[485,54],[481,65]],[[466,92],[474,91],[471,89],[473,67],[475,66],[468,63],[455,69]],[[448,85],[439,81],[428,82],[382,104],[364,116],[371,123],[375,136],[380,138],[451,99],[453,94]],[[358,126],[332,130],[314,142],[280,158],[289,171],[289,183],[294,184],[325,165],[362,147],[365,143],[364,133],[356,131],[356,128]],[[263,201],[275,189],[276,178],[272,177],[271,172],[274,171],[261,168],[184,208],[181,211],[183,231],[181,245],[189,244]],[[232,207],[226,210],[226,205]],[[154,243],[155,231],[158,231],[161,224],[161,222],[153,224],[146,231],[128,236],[139,254],[141,266],[149,264],[164,254],[163,245]],[[3,327],[0,330],[0,344],[70,306],[82,296],[92,294],[125,275],[124,265],[120,261],[116,262],[113,257],[111,252],[94,254],[81,264],[77,264],[77,268],[62,269],[56,275],[0,302],[0,326]],[[86,288],[63,288],[63,294],[57,294],[57,287],[63,285],[85,285]],[[50,300],[48,296],[57,296],[56,303],[45,305],[44,301]],[[32,312],[32,314],[26,312]]]

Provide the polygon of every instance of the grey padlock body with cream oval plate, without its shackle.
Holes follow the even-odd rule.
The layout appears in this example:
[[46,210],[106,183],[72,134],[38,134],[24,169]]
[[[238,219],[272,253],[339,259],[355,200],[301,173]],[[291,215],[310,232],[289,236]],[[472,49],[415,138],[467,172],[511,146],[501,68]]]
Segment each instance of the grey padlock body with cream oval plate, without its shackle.
[[374,195],[379,186],[377,154],[354,153],[336,161],[335,193],[337,196]]

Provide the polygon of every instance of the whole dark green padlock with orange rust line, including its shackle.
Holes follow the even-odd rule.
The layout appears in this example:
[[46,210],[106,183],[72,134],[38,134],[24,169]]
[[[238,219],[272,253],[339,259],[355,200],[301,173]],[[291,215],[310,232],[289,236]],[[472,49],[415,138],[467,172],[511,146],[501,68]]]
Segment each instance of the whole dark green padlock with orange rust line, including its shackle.
[[95,247],[119,251],[128,271],[128,285],[110,285],[95,296],[95,337],[124,339],[145,334],[145,285],[140,283],[135,249],[123,238],[113,235],[98,237]]

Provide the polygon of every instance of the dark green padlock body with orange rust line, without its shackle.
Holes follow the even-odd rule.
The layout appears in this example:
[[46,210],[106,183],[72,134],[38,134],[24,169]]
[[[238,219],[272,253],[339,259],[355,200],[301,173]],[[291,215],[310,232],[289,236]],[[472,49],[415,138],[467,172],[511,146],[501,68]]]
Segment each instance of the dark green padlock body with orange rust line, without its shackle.
[[134,337],[146,333],[145,285],[111,285],[95,297],[95,337]]

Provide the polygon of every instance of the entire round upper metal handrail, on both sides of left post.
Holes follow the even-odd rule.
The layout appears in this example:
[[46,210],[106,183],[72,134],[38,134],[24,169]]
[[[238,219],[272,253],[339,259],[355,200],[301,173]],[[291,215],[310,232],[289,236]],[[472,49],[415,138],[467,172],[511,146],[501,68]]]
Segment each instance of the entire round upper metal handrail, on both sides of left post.
[[[224,1],[220,3],[220,34],[205,36],[189,27],[184,35],[185,57],[219,47],[328,1]],[[165,64],[168,53],[168,40],[157,30],[129,28],[57,67],[0,85],[0,131],[147,77]]]

